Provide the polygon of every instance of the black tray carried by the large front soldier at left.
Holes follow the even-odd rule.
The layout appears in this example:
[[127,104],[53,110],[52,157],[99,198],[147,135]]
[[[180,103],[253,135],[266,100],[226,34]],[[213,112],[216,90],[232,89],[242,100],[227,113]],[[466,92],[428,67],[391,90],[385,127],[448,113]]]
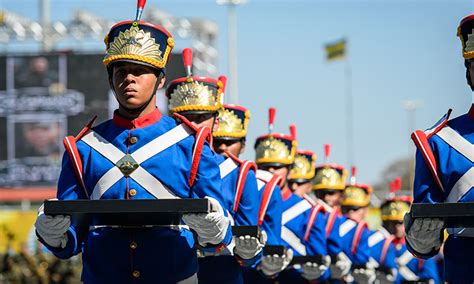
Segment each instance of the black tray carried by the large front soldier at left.
[[208,213],[208,199],[46,200],[46,215],[69,215],[73,224],[179,225],[184,213]]

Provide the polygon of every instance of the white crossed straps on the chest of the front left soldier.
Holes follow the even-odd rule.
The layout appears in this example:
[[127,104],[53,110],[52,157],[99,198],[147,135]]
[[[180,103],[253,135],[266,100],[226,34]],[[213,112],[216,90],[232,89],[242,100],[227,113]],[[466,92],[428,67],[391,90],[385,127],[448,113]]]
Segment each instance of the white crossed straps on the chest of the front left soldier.
[[[185,139],[190,134],[191,130],[189,127],[183,124],[178,125],[172,130],[150,141],[133,154],[130,154],[130,156],[138,164],[141,164],[147,159]],[[81,140],[113,164],[116,164],[120,159],[126,156],[126,154],[120,149],[94,131],[89,131],[89,133],[87,133]],[[94,186],[91,199],[100,199],[100,197],[123,176],[123,173],[118,167],[112,167]],[[140,166],[130,174],[130,177],[156,198],[177,198],[157,178]]]

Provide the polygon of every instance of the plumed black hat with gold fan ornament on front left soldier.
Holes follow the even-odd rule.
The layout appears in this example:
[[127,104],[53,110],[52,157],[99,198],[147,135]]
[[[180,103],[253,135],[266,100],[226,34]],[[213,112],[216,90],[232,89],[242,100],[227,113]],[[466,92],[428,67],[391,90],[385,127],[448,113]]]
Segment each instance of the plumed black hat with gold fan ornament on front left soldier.
[[160,70],[166,67],[174,40],[163,27],[140,21],[145,3],[146,0],[138,1],[134,21],[117,23],[105,36],[105,66],[128,61]]

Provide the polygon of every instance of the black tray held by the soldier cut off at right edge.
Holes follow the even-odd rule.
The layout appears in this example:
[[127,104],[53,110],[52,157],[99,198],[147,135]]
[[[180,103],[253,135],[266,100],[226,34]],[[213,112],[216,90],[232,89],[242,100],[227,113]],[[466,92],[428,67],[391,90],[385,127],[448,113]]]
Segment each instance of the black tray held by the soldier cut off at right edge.
[[442,218],[448,228],[474,227],[474,202],[459,203],[413,203],[413,218]]

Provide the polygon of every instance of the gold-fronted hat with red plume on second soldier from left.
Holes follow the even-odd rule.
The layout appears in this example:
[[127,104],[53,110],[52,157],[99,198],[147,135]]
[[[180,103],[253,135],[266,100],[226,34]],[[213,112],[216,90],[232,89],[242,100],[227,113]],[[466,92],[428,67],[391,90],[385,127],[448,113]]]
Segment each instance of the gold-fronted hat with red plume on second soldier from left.
[[173,80],[166,88],[170,113],[216,113],[221,108],[221,93],[225,81],[208,77],[193,77],[192,50],[183,50],[187,76]]

